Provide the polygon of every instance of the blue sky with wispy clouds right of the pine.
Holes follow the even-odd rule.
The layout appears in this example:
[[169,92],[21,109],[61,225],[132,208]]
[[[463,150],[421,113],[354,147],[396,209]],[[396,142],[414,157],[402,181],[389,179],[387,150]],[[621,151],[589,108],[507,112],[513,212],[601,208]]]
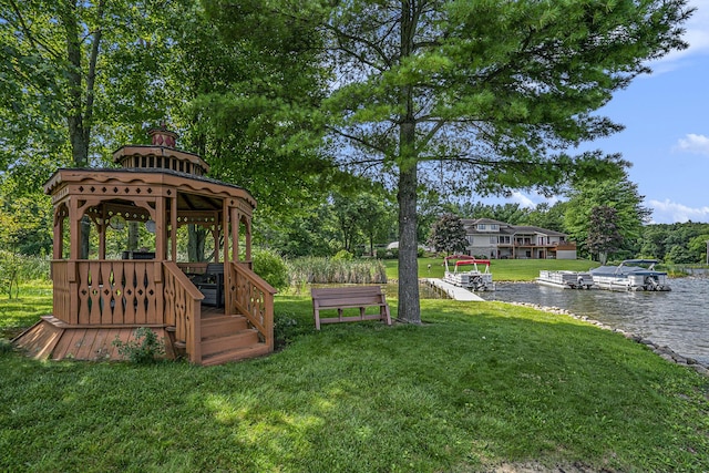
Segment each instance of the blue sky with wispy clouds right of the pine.
[[[599,113],[625,130],[590,143],[633,163],[630,182],[654,224],[709,223],[709,0],[689,4],[697,8],[685,23],[689,48],[649,63],[653,74],[617,92]],[[545,200],[516,193],[505,202]]]

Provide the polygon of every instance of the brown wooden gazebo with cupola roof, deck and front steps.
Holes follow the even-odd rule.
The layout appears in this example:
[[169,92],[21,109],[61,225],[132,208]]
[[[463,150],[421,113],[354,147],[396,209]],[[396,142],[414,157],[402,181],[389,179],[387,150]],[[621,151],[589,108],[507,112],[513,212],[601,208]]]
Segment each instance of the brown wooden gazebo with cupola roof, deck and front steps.
[[[174,133],[151,135],[152,145],[114,153],[120,168],[62,168],[44,185],[54,206],[53,311],[16,339],[30,354],[120,359],[114,340],[132,340],[138,327],[164,338],[167,357],[198,364],[273,351],[276,291],[251,270],[256,202],[206,177],[207,163],[176,150]],[[106,232],[131,222],[154,234],[154,250],[106,259]],[[213,261],[179,260],[177,229],[191,224],[212,233]],[[94,259],[82,254],[88,230],[97,236]]]

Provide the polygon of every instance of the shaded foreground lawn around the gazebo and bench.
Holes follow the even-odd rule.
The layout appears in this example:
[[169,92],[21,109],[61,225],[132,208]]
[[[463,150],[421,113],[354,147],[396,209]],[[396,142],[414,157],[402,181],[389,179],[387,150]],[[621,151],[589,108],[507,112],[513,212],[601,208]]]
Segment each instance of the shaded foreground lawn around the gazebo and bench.
[[0,471],[709,471],[709,380],[617,333],[501,302],[276,312],[282,351],[214,368],[0,354]]

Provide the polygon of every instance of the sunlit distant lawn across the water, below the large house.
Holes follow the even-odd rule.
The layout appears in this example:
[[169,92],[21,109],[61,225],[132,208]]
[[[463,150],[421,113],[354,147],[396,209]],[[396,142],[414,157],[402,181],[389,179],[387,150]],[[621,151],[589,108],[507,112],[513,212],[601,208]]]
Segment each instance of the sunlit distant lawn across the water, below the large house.
[[[399,279],[399,261],[386,259],[384,265],[387,278]],[[587,259],[493,259],[490,270],[495,281],[532,281],[541,269],[587,271],[597,266],[598,263]],[[442,278],[443,270],[443,258],[419,258],[420,278]]]

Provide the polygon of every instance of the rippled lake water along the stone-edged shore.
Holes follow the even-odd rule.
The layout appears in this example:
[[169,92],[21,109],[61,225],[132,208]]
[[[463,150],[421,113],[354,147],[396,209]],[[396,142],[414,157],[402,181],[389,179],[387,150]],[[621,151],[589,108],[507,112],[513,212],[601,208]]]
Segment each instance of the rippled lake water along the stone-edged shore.
[[537,284],[500,284],[486,300],[558,307],[668,346],[709,364],[709,278],[670,279],[669,292],[572,290]]

